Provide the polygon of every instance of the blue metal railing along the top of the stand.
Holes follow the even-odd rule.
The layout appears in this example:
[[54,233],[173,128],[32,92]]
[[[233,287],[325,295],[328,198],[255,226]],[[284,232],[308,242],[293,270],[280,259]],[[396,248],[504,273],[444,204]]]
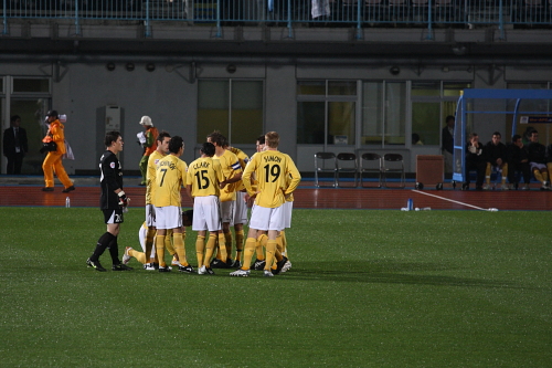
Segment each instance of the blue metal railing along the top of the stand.
[[[551,25],[552,0],[0,0],[4,34],[13,18],[185,21],[193,24],[473,28]],[[148,34],[147,34],[148,35]]]

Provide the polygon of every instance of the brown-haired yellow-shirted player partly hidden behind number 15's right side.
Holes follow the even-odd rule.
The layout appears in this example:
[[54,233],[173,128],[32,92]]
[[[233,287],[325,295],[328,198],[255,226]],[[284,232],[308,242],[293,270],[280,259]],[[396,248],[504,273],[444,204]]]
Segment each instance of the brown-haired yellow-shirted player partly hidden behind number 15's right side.
[[222,230],[219,231],[220,254],[213,260],[211,266],[227,269],[232,266],[233,261],[229,259],[226,243],[232,244],[230,227],[233,225],[232,221],[234,220],[237,181],[242,180],[243,171],[236,155],[224,148],[227,146],[226,137],[215,130],[206,137],[206,140],[213,144],[215,148],[213,158],[220,161],[224,176],[224,180],[221,182],[220,194],[222,211]]

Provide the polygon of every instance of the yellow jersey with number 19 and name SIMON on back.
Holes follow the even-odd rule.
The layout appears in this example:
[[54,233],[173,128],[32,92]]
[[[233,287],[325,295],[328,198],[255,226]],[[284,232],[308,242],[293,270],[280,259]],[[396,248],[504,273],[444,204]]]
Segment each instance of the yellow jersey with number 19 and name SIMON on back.
[[242,180],[250,196],[255,193],[251,183],[253,172],[258,182],[255,204],[265,208],[284,204],[285,196],[290,194],[301,180],[291,158],[278,150],[257,153],[245,167]]

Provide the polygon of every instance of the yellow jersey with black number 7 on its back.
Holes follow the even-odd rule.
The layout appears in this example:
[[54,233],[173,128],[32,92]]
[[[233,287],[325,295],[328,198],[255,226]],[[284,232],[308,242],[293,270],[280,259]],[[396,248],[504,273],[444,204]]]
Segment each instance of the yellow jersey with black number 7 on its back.
[[181,207],[180,190],[185,183],[188,166],[174,155],[167,155],[159,160],[156,170],[156,191],[153,192],[153,206]]

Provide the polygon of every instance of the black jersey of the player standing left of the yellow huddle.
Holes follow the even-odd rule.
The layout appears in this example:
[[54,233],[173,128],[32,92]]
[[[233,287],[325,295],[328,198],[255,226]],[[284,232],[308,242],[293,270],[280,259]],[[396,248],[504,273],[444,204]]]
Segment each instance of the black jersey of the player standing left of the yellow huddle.
[[123,189],[123,168],[117,156],[110,150],[106,150],[99,159],[99,174],[102,187],[99,208],[102,210],[119,209],[119,197],[115,190]]

